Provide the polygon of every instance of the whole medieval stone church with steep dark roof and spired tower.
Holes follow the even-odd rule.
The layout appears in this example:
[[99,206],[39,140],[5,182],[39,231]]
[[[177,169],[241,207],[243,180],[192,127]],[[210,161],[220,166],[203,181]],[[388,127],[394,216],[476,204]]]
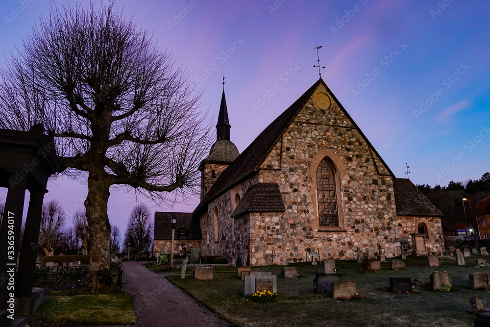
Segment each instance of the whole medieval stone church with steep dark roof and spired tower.
[[312,253],[355,259],[358,248],[387,257],[402,247],[443,250],[441,211],[393,175],[321,78],[241,154],[230,141],[224,90],[216,129],[190,218],[203,255],[256,266]]

